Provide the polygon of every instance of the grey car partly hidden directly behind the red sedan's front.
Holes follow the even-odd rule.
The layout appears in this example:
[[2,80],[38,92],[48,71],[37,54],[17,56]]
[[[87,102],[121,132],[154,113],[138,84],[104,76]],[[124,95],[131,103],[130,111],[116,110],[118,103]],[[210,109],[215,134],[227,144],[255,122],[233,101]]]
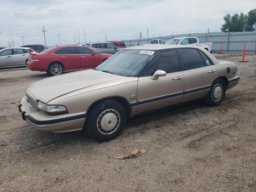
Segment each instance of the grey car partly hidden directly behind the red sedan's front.
[[120,51],[121,48],[113,45],[109,42],[102,42],[102,43],[87,43],[85,46],[96,50],[99,53],[107,53],[107,54],[115,54],[116,52]]

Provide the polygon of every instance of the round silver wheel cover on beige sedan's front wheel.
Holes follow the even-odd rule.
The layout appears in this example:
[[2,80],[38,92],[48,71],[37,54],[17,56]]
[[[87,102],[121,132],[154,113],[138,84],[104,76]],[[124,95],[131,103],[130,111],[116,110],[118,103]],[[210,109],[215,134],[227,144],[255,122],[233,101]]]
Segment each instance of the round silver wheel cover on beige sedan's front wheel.
[[103,111],[97,120],[97,128],[101,134],[112,134],[120,125],[120,114],[114,109]]

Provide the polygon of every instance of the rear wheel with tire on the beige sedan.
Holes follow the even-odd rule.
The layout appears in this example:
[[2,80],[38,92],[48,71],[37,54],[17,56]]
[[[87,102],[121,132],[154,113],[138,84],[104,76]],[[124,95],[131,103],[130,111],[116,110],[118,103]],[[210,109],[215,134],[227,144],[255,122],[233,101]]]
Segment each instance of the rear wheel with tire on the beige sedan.
[[226,84],[222,79],[216,79],[212,83],[212,88],[208,92],[207,96],[205,97],[205,102],[209,106],[218,106],[226,93]]

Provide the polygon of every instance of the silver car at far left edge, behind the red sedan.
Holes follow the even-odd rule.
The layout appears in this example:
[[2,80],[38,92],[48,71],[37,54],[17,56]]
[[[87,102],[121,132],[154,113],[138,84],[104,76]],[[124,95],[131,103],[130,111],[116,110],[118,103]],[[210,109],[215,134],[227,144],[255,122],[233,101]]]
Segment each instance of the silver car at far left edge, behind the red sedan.
[[26,65],[30,52],[33,52],[28,47],[12,47],[0,50],[0,67]]

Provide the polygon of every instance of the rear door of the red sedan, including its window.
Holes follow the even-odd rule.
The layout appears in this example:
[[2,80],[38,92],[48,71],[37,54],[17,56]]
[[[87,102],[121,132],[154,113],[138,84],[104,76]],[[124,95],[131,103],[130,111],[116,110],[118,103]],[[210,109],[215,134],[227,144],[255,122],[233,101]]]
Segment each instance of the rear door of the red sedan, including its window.
[[64,47],[60,50],[60,60],[65,70],[74,70],[81,67],[80,55],[75,47]]

